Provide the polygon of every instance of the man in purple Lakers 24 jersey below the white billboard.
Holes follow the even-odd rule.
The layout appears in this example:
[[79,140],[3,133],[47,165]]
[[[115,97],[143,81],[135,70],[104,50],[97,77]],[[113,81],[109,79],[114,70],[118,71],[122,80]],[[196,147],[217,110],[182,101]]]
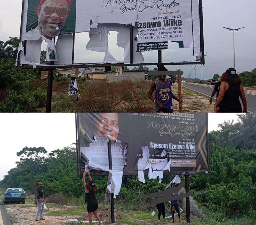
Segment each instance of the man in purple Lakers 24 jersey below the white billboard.
[[[160,66],[158,71],[167,71],[164,66]],[[148,98],[156,104],[156,112],[173,112],[172,98],[179,102],[179,99],[172,93],[172,81],[166,75],[158,75],[148,91]],[[152,96],[155,91],[155,98]]]

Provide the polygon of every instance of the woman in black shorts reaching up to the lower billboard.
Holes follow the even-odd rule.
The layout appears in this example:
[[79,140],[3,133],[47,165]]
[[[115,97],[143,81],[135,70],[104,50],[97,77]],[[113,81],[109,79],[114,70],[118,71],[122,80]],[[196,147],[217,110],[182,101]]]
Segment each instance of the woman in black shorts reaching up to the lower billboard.
[[89,182],[85,182],[85,175],[86,172],[83,173],[83,185],[85,188],[85,202],[87,202],[87,211],[88,211],[88,217],[89,217],[89,223],[92,225],[92,215],[96,217],[96,219],[99,221],[99,225],[102,225],[100,222],[100,216],[97,212],[98,210],[98,201],[96,199],[95,192],[97,190],[96,183],[92,180],[90,176],[90,172],[87,173],[89,177]]

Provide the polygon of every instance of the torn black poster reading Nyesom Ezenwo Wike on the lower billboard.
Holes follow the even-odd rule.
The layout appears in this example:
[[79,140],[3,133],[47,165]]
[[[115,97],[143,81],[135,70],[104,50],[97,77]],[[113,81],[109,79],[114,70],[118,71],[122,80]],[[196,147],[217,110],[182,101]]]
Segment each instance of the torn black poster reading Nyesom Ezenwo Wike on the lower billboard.
[[[112,169],[150,178],[208,170],[207,113],[77,113],[78,175]],[[144,172],[142,172],[144,171]]]

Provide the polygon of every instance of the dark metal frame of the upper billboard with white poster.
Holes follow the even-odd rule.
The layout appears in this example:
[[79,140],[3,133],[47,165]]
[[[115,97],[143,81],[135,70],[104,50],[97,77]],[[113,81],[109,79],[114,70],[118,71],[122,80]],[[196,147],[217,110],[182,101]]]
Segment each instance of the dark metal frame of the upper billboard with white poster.
[[[21,35],[22,35],[22,24],[23,24],[23,9],[24,9],[24,1],[22,0],[22,12],[21,12],[21,25],[20,25],[20,41],[21,41]],[[75,33],[73,33],[73,50],[72,50],[72,64],[69,65],[59,65],[54,64],[54,62],[51,62],[50,64],[45,65],[39,65],[37,68],[44,68],[44,69],[57,69],[57,68],[69,68],[69,67],[107,67],[107,66],[150,66],[150,65],[197,65],[205,64],[205,58],[204,58],[204,36],[203,36],[203,5],[202,0],[199,1],[199,29],[200,29],[200,50],[201,50],[201,59],[200,60],[194,60],[194,61],[184,61],[184,62],[162,62],[162,50],[158,51],[158,60],[155,63],[133,63],[133,26],[130,26],[130,63],[105,63],[105,64],[98,64],[98,63],[83,63],[83,64],[77,64],[74,63],[74,46],[75,46]],[[26,41],[24,44],[24,52],[26,52]],[[27,64],[19,64],[19,57],[18,57],[18,68],[22,69],[33,69],[32,65]]]

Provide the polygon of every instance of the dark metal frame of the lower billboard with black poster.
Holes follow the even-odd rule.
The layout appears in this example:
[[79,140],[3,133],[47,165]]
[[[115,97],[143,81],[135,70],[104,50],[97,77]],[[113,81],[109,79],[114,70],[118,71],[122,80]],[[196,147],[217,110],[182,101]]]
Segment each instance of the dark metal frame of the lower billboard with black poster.
[[[82,177],[83,175],[83,171],[81,170],[81,150],[80,150],[80,128],[79,128],[79,113],[75,113],[75,122],[76,122],[76,152],[77,152],[77,176],[78,177]],[[207,172],[168,172],[168,171],[164,171],[163,175],[195,175],[195,174],[204,174],[207,175],[209,173],[209,130],[208,130],[208,113],[206,115],[206,123],[207,123],[207,129],[206,129],[206,140],[207,140],[207,163],[208,163],[208,171]],[[111,146],[111,145],[110,145]],[[110,149],[111,151],[111,149]],[[104,171],[96,171],[96,170],[92,170],[93,175],[94,176],[107,176],[108,172],[104,172]],[[136,172],[131,172],[131,173],[123,173],[123,175],[127,175],[127,176],[136,176],[138,175],[138,173]],[[144,175],[148,175],[148,172],[144,171]]]

